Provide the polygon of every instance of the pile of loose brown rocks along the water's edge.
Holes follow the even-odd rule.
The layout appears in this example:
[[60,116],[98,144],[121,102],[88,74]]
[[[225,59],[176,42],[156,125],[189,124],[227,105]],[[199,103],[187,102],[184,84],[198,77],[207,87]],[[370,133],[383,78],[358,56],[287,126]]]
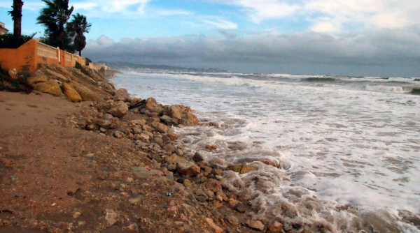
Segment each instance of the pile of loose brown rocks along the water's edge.
[[[144,105],[129,110],[141,100],[132,99],[125,89],[119,89],[102,102],[85,103],[88,106],[82,108],[80,115],[71,117],[66,123],[104,136],[130,140],[153,164],[150,168],[135,168],[134,176],[176,181],[174,192],[180,193],[186,202],[175,204],[167,211],[182,211],[193,216],[200,211],[208,212],[204,220],[211,232],[283,232],[281,219],[267,220],[256,216],[256,211],[246,204],[249,200],[246,193],[231,190],[232,185],[221,176],[224,170],[244,174],[257,167],[221,167],[207,163],[199,152],[188,154],[189,150],[177,145],[179,135],[172,132],[172,127],[197,126],[199,121],[192,110],[183,105],[164,106],[156,103],[154,98],[148,98]],[[208,145],[206,149],[215,149],[213,147]],[[171,195],[173,193],[167,193],[167,196]],[[136,203],[137,200],[133,197],[129,202]],[[183,216],[185,220],[189,219],[188,214]]]

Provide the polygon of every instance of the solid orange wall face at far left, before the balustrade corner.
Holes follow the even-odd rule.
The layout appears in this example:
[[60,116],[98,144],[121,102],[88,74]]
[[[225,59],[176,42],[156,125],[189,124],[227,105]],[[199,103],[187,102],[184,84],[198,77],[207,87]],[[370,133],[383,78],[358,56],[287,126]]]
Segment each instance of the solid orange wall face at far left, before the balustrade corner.
[[15,68],[20,72],[31,73],[36,70],[36,40],[29,40],[17,49],[0,49],[0,66],[5,70]]

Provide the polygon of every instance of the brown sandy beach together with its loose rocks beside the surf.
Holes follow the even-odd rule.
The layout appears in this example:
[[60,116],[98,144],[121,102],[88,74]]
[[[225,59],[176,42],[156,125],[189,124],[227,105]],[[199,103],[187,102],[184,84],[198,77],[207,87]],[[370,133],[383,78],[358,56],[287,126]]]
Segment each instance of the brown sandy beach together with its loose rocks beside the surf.
[[112,92],[81,103],[0,92],[13,121],[0,127],[0,232],[281,232],[252,218],[221,169],[176,147],[169,126],[198,124],[189,107],[149,98],[127,111],[139,99]]

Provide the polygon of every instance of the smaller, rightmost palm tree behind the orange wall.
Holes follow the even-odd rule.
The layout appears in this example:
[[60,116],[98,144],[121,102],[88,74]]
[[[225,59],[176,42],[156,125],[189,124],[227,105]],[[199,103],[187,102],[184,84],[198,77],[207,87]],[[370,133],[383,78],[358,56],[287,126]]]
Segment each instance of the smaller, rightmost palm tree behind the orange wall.
[[79,56],[82,56],[82,50],[86,46],[86,37],[84,33],[89,33],[89,28],[92,24],[87,23],[85,15],[77,13],[72,16],[73,20],[67,23],[66,28],[71,33],[71,36],[74,36],[74,48],[78,50]]

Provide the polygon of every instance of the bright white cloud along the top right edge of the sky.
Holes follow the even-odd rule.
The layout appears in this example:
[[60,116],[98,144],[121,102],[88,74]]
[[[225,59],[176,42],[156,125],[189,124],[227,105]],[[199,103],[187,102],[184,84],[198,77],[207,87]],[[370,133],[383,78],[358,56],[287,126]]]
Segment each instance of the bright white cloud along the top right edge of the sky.
[[239,6],[257,24],[265,20],[301,18],[310,24],[312,31],[401,29],[420,21],[420,1],[412,0],[212,1]]

